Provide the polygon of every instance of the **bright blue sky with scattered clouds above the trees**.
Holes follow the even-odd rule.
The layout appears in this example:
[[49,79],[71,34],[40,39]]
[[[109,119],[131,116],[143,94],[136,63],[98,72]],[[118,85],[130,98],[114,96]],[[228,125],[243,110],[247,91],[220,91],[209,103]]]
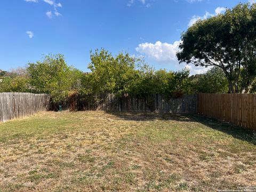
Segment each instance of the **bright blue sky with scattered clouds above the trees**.
[[[250,0],[251,2],[253,0]],[[61,53],[88,71],[90,50],[143,55],[156,69],[180,70],[182,31],[197,19],[248,0],[8,0],[0,3],[0,69]],[[189,66],[191,73],[204,69]]]

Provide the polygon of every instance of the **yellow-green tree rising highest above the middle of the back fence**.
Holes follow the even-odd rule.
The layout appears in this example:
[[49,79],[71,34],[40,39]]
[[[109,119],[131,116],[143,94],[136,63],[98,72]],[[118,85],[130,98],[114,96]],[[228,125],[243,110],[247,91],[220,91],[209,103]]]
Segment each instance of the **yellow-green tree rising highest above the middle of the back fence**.
[[88,68],[91,69],[92,74],[87,77],[90,78],[92,91],[96,94],[115,93],[118,95],[129,92],[129,86],[133,84],[138,73],[135,70],[138,62],[139,59],[127,53],[119,53],[113,57],[104,49],[96,50],[95,53],[91,52],[91,63]]

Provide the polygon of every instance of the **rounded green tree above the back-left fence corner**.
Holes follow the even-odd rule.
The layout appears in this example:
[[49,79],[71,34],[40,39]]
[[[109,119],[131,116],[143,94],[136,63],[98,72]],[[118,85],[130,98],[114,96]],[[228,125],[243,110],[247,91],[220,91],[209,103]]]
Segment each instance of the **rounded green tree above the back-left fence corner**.
[[51,94],[54,103],[65,102],[68,92],[81,83],[81,71],[69,67],[61,54],[46,55],[43,61],[29,63],[27,71],[31,90]]

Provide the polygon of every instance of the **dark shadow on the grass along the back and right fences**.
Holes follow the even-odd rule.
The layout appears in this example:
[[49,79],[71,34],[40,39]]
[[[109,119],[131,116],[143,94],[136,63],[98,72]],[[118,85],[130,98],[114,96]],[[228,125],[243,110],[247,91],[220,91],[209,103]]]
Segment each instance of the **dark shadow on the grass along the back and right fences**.
[[256,132],[253,130],[245,129],[227,122],[219,121],[214,118],[209,118],[196,114],[161,114],[161,113],[138,113],[138,112],[112,112],[107,113],[117,116],[126,121],[179,121],[179,122],[197,122],[201,123],[211,129],[222,131],[232,137],[247,141],[256,145]]

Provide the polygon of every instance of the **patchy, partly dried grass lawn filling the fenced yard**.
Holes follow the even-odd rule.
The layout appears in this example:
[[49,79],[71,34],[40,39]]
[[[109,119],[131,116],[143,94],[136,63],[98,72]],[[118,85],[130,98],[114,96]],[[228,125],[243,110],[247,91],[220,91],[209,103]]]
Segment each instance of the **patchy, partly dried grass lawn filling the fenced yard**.
[[256,186],[256,136],[200,116],[40,113],[0,124],[0,191]]

